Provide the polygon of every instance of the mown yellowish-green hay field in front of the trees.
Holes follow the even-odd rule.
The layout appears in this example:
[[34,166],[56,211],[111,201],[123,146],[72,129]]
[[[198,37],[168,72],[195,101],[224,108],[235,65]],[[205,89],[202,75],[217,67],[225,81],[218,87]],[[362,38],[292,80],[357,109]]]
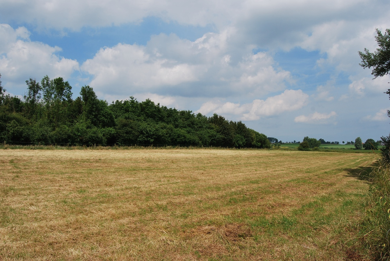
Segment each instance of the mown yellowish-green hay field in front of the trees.
[[377,158],[0,150],[0,260],[363,260]]

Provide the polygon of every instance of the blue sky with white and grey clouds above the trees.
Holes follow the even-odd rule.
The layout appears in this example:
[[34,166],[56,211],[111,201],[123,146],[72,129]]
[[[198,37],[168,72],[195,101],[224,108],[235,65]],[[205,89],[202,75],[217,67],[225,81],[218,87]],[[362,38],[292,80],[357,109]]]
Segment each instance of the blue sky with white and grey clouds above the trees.
[[63,77],[73,98],[150,98],[243,121],[282,141],[378,140],[390,77],[358,51],[390,28],[388,0],[0,0],[0,74]]

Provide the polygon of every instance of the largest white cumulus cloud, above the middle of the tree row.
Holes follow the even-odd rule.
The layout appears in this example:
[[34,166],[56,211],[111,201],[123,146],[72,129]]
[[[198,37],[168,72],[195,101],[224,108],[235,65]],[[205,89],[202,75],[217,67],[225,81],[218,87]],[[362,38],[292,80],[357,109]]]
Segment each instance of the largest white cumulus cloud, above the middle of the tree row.
[[293,82],[268,54],[230,46],[230,34],[207,33],[193,42],[174,34],[155,35],[146,46],[101,48],[81,69],[92,75],[94,89],[104,92],[106,86],[115,86],[107,90],[110,93],[142,89],[187,97],[264,95],[283,91],[286,82]]

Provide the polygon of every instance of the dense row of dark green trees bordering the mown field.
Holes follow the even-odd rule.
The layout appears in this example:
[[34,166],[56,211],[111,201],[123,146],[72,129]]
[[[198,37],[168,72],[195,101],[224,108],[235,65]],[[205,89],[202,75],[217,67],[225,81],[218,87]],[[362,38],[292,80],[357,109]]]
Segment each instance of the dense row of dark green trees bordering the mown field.
[[[0,75],[1,77],[1,75]],[[160,106],[134,97],[108,104],[83,86],[72,98],[62,77],[30,78],[23,99],[0,81],[0,140],[33,144],[204,145],[269,148],[266,135],[241,121]]]

